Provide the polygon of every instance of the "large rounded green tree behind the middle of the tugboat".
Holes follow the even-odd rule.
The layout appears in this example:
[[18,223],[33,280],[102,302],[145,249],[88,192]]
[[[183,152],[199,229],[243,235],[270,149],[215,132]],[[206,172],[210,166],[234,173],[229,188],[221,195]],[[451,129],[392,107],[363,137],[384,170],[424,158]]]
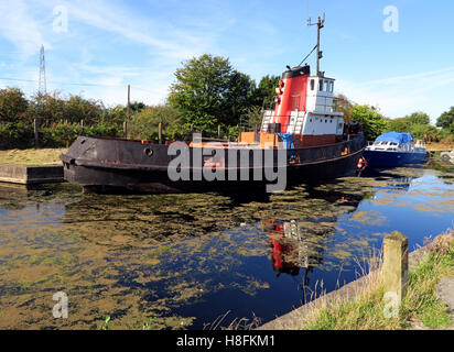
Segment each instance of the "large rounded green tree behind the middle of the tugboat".
[[216,129],[218,123],[237,124],[255,89],[253,80],[235,70],[228,58],[208,54],[185,62],[175,78],[169,103],[184,124],[204,131]]

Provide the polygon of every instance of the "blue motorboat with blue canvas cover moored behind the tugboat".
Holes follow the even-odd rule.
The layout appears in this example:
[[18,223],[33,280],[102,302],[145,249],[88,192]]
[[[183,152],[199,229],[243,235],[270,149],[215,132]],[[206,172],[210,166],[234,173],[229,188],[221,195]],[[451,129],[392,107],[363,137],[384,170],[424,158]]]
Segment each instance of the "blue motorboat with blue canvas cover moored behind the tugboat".
[[368,145],[363,156],[367,167],[387,168],[423,163],[425,154],[424,142],[414,143],[411,133],[387,132]]

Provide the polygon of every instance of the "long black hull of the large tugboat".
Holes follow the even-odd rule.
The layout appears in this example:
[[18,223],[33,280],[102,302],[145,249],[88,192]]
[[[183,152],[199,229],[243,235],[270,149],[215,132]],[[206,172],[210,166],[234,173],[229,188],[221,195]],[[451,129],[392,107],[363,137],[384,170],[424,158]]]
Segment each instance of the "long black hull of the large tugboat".
[[[354,176],[366,144],[364,135],[360,134],[350,141],[333,145],[287,150],[287,160],[295,155],[299,157],[298,164],[285,163],[287,187]],[[173,182],[169,178],[167,165],[175,156],[169,156],[167,148],[167,145],[148,144],[141,141],[79,136],[67,153],[61,156],[64,163],[64,178],[87,188],[127,187],[158,193],[248,190],[264,188],[266,185],[275,183],[269,182],[264,177],[263,169],[262,180],[252,180],[257,179],[253,177],[256,175],[253,168],[249,168],[247,172],[249,180],[216,179],[209,182],[206,179],[194,180],[194,177],[191,177],[191,180]],[[348,154],[345,154],[346,148],[348,148]],[[195,148],[191,148],[191,155],[193,152],[196,152]],[[250,153],[250,165],[252,165],[253,160],[252,153]],[[277,158],[278,156],[275,156]],[[191,156],[191,173],[194,172],[192,165],[193,157]],[[275,164],[274,169],[277,167]],[[238,167],[225,170],[226,179],[229,178],[228,173],[236,173],[237,179],[240,179],[239,162]]]

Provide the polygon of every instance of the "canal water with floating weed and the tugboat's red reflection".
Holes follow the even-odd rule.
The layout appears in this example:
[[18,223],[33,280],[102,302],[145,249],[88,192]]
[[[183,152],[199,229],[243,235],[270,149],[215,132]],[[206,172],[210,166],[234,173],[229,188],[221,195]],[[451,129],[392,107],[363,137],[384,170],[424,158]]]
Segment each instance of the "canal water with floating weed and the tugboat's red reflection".
[[358,277],[388,232],[413,250],[454,227],[452,167],[365,176],[270,196],[1,186],[0,329],[248,328]]

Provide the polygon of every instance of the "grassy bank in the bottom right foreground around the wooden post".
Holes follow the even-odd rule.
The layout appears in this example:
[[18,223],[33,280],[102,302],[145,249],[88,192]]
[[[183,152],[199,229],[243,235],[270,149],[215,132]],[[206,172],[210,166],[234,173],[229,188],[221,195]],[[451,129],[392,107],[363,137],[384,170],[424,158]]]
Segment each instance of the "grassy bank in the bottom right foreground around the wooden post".
[[408,290],[398,318],[386,318],[380,271],[369,275],[354,300],[326,302],[302,321],[309,330],[399,330],[424,326],[443,329],[452,324],[445,304],[435,296],[442,277],[454,276],[454,231],[441,234],[428,245],[428,254],[409,271]]

